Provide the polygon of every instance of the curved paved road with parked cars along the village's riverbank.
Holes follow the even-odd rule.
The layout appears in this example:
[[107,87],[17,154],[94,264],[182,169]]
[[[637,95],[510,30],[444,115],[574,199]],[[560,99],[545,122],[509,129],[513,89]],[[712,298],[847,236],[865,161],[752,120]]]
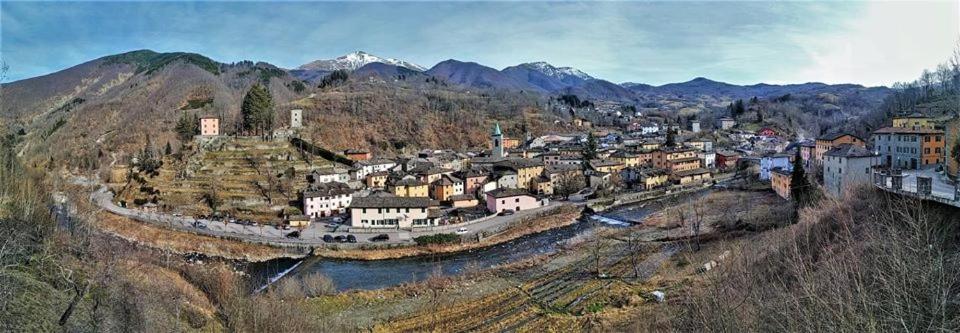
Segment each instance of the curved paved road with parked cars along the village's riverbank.
[[[94,202],[97,206],[120,216],[125,216],[137,221],[156,224],[160,226],[165,226],[168,228],[173,228],[177,230],[185,230],[193,233],[216,236],[216,237],[228,237],[234,238],[242,241],[249,242],[271,242],[271,243],[283,243],[290,245],[326,245],[327,243],[323,242],[324,235],[331,236],[346,236],[351,234],[347,232],[348,229],[345,225],[338,225],[337,227],[327,227],[325,223],[311,223],[309,227],[305,228],[300,235],[300,238],[287,238],[286,235],[294,230],[281,230],[273,226],[250,226],[250,225],[241,225],[237,223],[224,223],[217,221],[209,221],[204,219],[195,219],[192,217],[184,216],[174,216],[164,213],[153,213],[153,212],[144,212],[137,209],[128,209],[118,206],[113,201],[113,194],[107,191],[105,186],[101,186],[99,190],[90,195],[91,201]],[[468,231],[465,234],[476,234],[477,232],[484,230],[496,230],[501,229],[505,224],[515,221],[517,219],[535,214],[537,212],[552,209],[559,207],[561,203],[551,202],[547,206],[538,207],[536,209],[530,209],[525,211],[517,212],[514,215],[510,216],[495,216],[487,217],[482,220],[475,220],[477,222],[464,222],[459,224],[451,224],[445,226],[438,226],[431,228],[430,230],[423,231],[406,231],[406,230],[394,230],[388,232],[373,232],[373,233],[352,233],[357,237],[358,244],[363,243],[372,243],[370,238],[381,233],[386,233],[390,236],[390,240],[387,242],[380,242],[378,244],[408,244],[412,243],[412,238],[436,234],[436,233],[450,233],[455,232],[459,228],[466,228]],[[205,228],[194,227],[196,222],[200,222],[205,225]],[[340,246],[346,244],[338,244]],[[356,245],[359,246],[359,245]]]

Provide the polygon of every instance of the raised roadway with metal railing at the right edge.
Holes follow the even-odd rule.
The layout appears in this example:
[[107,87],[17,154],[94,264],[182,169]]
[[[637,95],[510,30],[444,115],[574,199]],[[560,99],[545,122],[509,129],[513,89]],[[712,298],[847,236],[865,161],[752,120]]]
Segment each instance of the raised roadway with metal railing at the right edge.
[[952,181],[933,168],[874,169],[873,184],[887,192],[960,207],[960,181]]

